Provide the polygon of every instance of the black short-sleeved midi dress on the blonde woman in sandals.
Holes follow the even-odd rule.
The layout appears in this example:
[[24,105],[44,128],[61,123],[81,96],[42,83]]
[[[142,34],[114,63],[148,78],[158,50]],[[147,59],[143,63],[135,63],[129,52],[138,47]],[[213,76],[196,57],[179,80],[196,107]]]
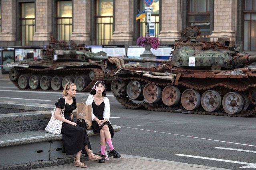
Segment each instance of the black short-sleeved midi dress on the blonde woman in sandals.
[[[65,99],[61,97],[55,103],[56,107],[63,109],[65,106]],[[72,113],[77,108],[76,98],[73,97],[73,103],[69,105],[66,103],[64,117],[65,119],[74,122],[70,113]],[[61,134],[63,138],[63,148],[62,152],[66,153],[66,155],[73,155],[82,150],[83,154],[86,154],[85,146],[88,145],[88,148],[91,149],[91,144],[89,141],[88,134],[85,128],[81,128],[79,126],[70,125],[68,123],[63,122],[61,128]]]

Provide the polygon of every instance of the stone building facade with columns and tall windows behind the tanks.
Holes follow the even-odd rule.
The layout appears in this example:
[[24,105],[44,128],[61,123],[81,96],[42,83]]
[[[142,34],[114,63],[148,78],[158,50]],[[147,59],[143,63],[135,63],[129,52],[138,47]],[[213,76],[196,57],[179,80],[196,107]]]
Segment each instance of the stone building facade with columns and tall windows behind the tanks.
[[[203,41],[229,38],[256,52],[256,0],[154,0],[151,22],[161,44],[186,26]],[[0,47],[44,46],[50,37],[86,45],[136,45],[146,35],[145,0],[0,0]]]

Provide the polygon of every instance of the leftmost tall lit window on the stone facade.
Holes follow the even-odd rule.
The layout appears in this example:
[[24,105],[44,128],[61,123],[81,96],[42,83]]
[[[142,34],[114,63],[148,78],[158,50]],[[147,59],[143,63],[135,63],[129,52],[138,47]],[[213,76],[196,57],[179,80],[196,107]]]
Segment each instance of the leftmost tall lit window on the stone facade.
[[34,2],[21,4],[21,40],[22,45],[29,45],[33,41],[35,32],[35,4]]

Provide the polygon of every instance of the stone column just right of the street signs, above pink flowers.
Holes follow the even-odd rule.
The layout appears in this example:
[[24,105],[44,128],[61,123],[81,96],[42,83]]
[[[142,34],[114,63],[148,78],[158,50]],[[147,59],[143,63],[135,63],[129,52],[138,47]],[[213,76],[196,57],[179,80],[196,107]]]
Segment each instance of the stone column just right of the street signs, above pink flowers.
[[161,31],[159,39],[161,42],[174,42],[180,39],[181,21],[181,0],[162,1]]

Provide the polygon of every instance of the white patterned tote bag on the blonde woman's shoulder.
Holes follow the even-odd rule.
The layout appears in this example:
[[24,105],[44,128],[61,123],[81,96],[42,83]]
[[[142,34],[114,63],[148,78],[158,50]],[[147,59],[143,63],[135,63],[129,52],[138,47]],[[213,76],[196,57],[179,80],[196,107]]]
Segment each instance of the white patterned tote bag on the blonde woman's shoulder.
[[[64,97],[63,97],[64,98]],[[65,98],[64,98],[65,99]],[[64,109],[60,111],[60,115],[64,117],[64,111],[66,107],[66,99],[65,99],[65,106]],[[54,108],[54,111],[52,111],[52,117],[50,118],[50,121],[48,122],[48,125],[44,129],[48,133],[52,134],[60,134],[61,133],[61,128],[62,128],[62,121],[58,120],[55,118],[55,111],[56,111],[56,106]]]

